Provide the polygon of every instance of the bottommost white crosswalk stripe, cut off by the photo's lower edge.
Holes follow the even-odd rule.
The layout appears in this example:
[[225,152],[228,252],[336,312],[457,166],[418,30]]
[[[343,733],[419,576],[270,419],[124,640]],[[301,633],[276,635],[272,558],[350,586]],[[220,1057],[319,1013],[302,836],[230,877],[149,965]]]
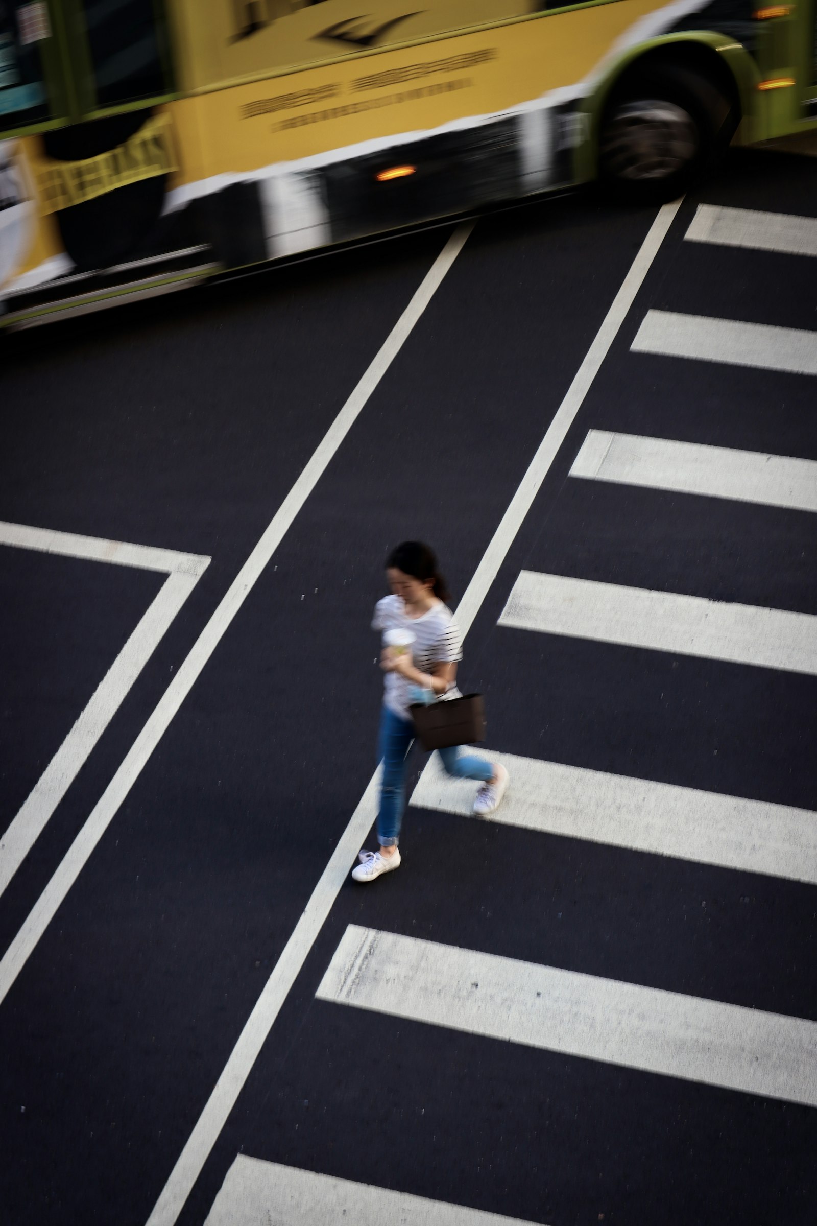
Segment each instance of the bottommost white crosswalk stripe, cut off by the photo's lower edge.
[[446,1200],[263,1162],[239,1154],[205,1226],[522,1226]]

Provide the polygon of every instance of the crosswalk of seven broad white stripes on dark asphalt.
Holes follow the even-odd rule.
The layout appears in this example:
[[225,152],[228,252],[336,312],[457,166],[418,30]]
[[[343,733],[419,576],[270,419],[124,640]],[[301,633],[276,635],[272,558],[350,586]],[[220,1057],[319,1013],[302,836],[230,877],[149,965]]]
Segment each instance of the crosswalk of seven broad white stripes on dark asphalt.
[[[813,256],[817,219],[701,205],[685,240]],[[817,332],[810,330],[648,310],[631,348],[634,354],[817,375]],[[683,498],[767,508],[770,515],[817,514],[813,460],[688,439],[589,429],[570,470],[571,488],[578,490],[582,482],[682,495],[675,504],[677,515],[683,515]],[[817,615],[658,585],[626,586],[523,569],[497,626],[497,651],[505,630],[524,630],[621,650],[726,661],[740,669],[817,676]],[[817,813],[810,809],[514,753],[492,750],[491,756],[512,777],[503,805],[490,819],[499,830],[517,826],[633,856],[817,885]],[[434,760],[410,799],[419,809],[468,818],[472,802],[473,786],[445,776]],[[544,960],[517,960],[448,943],[445,933],[429,940],[349,923],[315,996],[331,1007],[376,1013],[396,1024],[409,1020],[817,1107],[817,1022],[808,1018],[588,975]],[[239,1155],[207,1219],[209,1226],[278,1220],[293,1226],[349,1220],[410,1226],[519,1221]]]

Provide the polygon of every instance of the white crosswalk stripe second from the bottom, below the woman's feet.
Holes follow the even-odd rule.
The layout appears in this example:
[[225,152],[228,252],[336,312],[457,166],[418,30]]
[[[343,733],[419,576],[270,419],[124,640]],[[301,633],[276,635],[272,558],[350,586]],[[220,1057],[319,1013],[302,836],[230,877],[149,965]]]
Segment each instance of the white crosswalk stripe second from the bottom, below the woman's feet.
[[320,1000],[817,1106],[817,1022],[349,924]]

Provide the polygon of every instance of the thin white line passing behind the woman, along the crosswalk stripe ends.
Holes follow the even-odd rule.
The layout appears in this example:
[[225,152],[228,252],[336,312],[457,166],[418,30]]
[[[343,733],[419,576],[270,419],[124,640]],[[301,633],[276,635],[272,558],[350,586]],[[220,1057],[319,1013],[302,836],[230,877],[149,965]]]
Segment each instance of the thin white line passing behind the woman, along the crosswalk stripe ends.
[[[567,390],[565,400],[560,405],[535,456],[530,461],[519,488],[494,533],[491,543],[483,554],[474,577],[457,606],[457,622],[462,629],[463,638],[476,617],[479,607],[511,548],[522,521],[530,510],[539,487],[548,476],[550,465],[655,259],[680,204],[680,201],[675,201],[671,205],[664,205],[658,212],[632,262],[630,272],[612,300],[593,345],[588,349],[582,365]],[[356,809],[352,814],[349,824],[341,836],[341,841],[334,848],[328,864],[323,869],[320,881],[312,890],[304,915],[295,924],[283,954],[267,980],[230,1053],[224,1070],[198,1117],[196,1127],[179,1155],[176,1165],[170,1172],[170,1177],[148,1219],[148,1226],[173,1226],[181,1213],[207,1161],[209,1151],[216,1144],[241,1092],[241,1087],[250,1075],[280,1007],[306,961],[326,917],[332,910],[332,905],[347,879],[349,868],[354,863],[358,851],[372,826],[377,815],[377,783],[378,774],[375,772]],[[1,971],[2,966],[0,964],[0,973]]]

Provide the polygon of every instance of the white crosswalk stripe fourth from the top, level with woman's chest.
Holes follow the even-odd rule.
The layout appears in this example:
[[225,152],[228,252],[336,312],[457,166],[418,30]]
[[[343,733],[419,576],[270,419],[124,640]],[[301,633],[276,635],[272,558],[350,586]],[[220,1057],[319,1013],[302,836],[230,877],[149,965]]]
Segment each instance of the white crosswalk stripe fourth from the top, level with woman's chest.
[[817,617],[788,609],[523,570],[499,624],[817,674]]

